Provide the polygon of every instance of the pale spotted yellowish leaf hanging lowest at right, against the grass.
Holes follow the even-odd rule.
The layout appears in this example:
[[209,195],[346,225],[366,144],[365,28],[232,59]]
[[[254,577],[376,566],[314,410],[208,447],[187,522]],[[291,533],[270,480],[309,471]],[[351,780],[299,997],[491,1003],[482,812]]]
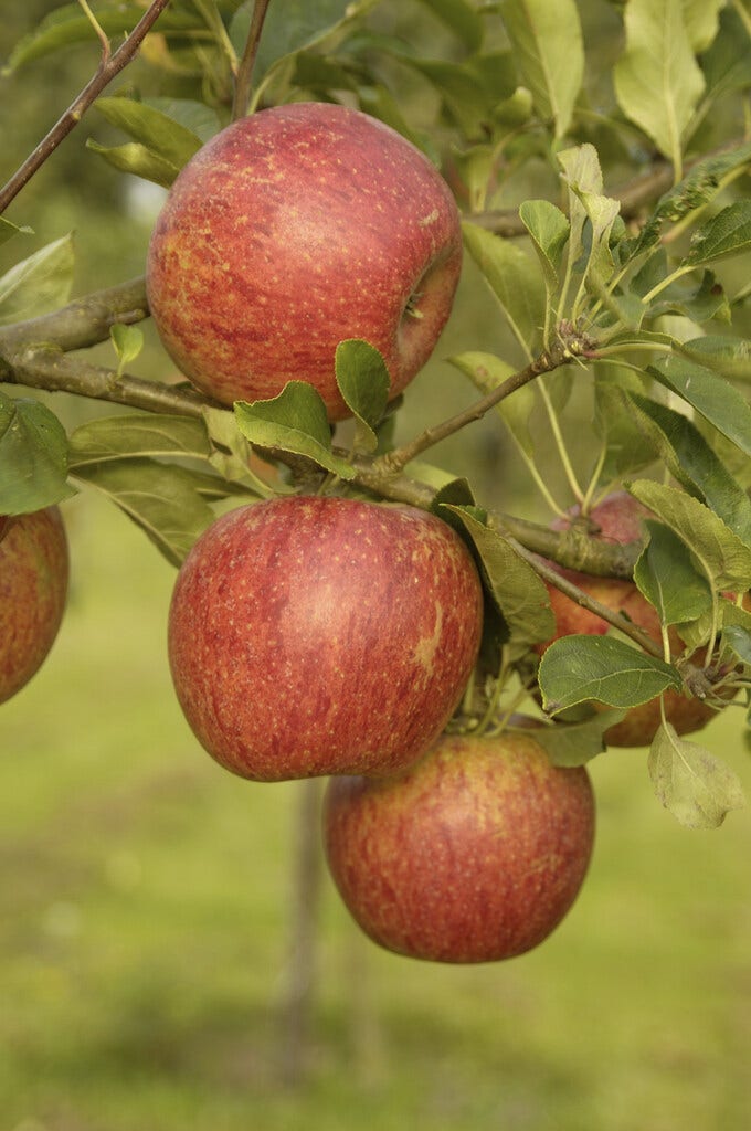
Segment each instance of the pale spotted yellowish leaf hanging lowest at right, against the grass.
[[716,829],[728,812],[743,809],[737,775],[694,742],[663,724],[649,750],[649,776],[657,797],[689,829]]

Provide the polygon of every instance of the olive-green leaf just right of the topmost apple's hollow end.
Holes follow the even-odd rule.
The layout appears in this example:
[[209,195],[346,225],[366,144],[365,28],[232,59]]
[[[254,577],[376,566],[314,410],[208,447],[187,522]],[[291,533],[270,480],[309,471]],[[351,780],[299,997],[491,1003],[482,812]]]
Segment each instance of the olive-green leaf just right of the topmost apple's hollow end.
[[476,224],[461,225],[467,251],[485,276],[527,357],[545,321],[545,287],[529,257],[510,240]]

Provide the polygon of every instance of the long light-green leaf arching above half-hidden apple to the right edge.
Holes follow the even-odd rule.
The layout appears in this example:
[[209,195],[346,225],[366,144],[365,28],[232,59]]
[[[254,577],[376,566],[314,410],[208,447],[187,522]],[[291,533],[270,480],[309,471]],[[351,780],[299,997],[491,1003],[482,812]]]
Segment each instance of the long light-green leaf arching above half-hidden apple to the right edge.
[[651,480],[637,480],[627,486],[683,539],[715,588],[733,593],[751,588],[751,546],[714,511],[684,491]]

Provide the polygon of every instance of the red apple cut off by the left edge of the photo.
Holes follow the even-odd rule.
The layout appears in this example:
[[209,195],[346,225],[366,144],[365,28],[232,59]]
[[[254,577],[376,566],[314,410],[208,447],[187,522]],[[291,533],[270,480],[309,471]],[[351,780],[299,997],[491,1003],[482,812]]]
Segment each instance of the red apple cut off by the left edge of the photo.
[[0,703],[50,651],[68,595],[68,539],[58,507],[0,517]]

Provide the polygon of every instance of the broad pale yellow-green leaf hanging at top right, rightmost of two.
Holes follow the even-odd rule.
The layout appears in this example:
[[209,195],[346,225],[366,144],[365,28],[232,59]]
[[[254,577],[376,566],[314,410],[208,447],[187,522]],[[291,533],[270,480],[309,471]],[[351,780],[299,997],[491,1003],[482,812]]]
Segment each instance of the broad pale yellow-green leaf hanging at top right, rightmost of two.
[[618,103],[676,166],[681,140],[705,89],[681,0],[628,0],[625,52],[614,70]]

